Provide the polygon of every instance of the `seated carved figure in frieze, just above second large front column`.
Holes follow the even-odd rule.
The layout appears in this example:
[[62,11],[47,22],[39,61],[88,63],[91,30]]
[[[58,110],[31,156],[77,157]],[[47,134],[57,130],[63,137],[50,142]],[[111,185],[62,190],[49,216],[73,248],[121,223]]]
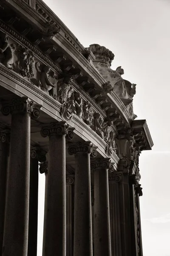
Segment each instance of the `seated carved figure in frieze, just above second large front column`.
[[41,77],[40,77],[41,89],[48,92],[49,95],[56,98],[57,95],[56,93],[54,93],[54,88],[56,87],[56,84],[51,83],[51,81],[49,80],[49,76],[48,76],[49,71],[50,71],[50,67],[48,66],[44,66],[42,68]]

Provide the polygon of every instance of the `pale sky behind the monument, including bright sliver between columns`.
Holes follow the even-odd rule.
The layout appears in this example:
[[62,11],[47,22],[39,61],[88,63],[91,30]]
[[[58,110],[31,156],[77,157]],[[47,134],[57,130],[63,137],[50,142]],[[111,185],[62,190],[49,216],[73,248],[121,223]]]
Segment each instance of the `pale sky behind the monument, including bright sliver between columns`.
[[[139,158],[144,256],[170,256],[170,0],[44,0],[84,47],[100,44],[136,83],[137,119],[146,119],[154,146]],[[39,218],[43,220],[44,175]],[[42,256],[42,221],[38,256]]]

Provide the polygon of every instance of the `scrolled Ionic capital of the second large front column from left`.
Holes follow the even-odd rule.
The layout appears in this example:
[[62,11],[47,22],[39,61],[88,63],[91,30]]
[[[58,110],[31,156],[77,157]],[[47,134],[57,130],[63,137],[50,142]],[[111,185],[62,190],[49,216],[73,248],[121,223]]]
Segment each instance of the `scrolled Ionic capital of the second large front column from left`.
[[75,128],[70,127],[65,121],[52,122],[41,128],[41,136],[65,136],[67,140],[73,139],[73,131]]

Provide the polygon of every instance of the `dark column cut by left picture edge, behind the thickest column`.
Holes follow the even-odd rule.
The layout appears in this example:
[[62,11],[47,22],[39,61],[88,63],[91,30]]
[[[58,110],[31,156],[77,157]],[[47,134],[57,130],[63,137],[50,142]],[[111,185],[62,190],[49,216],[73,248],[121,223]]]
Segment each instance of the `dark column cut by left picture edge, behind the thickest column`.
[[9,132],[0,131],[0,255],[3,249]]

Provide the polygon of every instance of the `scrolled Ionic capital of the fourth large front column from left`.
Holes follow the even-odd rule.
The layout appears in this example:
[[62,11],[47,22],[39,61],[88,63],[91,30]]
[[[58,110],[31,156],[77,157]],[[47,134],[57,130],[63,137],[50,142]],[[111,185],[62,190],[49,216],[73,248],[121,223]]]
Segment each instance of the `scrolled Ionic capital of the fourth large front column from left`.
[[91,162],[91,170],[97,170],[97,169],[109,169],[110,172],[113,172],[114,163],[111,162],[110,157],[97,158]]

